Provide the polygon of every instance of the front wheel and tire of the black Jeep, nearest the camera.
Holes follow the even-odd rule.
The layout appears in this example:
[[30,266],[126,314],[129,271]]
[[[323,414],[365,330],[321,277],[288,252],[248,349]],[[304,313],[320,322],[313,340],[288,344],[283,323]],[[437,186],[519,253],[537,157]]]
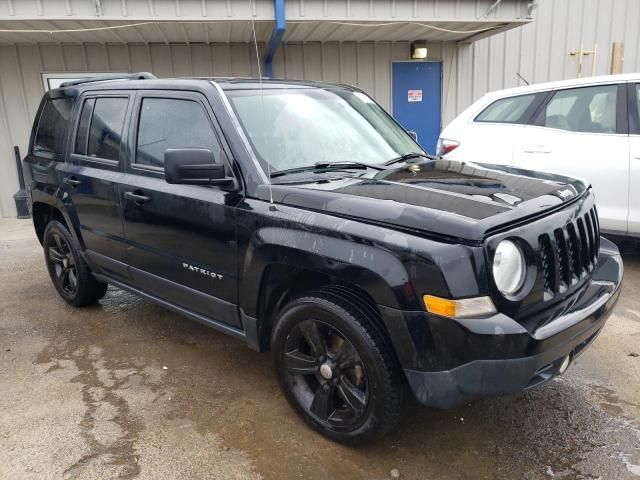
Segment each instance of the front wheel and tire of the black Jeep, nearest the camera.
[[372,315],[379,314],[356,294],[327,287],[287,304],[271,336],[285,397],[307,424],[341,443],[382,437],[403,411],[404,374]]

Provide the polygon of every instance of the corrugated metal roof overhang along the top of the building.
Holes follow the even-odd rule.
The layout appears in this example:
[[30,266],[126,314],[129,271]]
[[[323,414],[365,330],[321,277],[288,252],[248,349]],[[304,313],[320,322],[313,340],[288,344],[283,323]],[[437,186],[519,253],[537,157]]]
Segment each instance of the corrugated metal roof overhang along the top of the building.
[[[276,8],[280,5],[280,8]],[[472,42],[533,21],[535,0],[5,0],[0,44]]]

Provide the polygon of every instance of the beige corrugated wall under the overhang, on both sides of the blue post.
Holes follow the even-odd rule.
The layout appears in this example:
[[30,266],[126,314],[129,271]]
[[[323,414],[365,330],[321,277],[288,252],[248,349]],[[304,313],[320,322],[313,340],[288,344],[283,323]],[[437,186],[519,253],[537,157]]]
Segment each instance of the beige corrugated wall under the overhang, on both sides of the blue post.
[[[436,45],[432,52],[441,49]],[[388,108],[391,60],[408,57],[406,42],[285,45],[276,57],[275,75],[360,85]],[[258,75],[250,44],[0,46],[0,216],[15,215],[12,146],[26,152],[44,91],[42,72],[129,71],[159,77]]]

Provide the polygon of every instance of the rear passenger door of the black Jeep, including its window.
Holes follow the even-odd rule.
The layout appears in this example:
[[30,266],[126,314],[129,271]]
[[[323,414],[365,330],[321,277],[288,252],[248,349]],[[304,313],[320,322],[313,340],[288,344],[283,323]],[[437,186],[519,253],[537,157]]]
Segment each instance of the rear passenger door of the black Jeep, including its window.
[[111,276],[126,278],[118,182],[125,150],[128,92],[91,92],[80,98],[70,162],[61,166],[87,255]]

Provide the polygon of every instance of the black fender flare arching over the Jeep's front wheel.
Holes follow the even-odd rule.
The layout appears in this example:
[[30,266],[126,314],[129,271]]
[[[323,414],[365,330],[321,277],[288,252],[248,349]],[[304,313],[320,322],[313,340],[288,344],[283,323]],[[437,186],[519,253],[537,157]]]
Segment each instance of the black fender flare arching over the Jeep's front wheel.
[[422,307],[409,272],[392,252],[369,241],[358,242],[353,237],[339,238],[275,226],[257,230],[244,256],[240,308],[247,342],[259,351],[268,348],[266,319],[257,317],[265,272],[272,265],[321,273],[365,291],[380,309],[401,364],[407,368],[416,366],[416,342],[403,311],[419,316]]

